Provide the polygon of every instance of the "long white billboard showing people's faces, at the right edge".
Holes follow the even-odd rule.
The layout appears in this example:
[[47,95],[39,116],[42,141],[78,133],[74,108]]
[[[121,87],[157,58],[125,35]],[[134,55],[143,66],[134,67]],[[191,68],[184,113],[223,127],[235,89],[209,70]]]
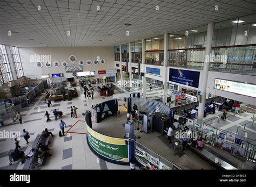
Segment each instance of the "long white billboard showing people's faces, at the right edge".
[[255,97],[256,85],[215,78],[214,89]]

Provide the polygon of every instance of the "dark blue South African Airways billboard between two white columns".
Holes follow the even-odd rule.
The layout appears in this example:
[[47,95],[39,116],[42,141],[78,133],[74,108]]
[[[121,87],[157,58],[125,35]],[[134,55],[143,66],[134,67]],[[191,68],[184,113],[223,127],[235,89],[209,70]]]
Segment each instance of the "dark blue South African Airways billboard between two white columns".
[[199,71],[190,71],[184,69],[173,69],[169,71],[169,81],[184,84],[190,87],[198,88],[199,86]]

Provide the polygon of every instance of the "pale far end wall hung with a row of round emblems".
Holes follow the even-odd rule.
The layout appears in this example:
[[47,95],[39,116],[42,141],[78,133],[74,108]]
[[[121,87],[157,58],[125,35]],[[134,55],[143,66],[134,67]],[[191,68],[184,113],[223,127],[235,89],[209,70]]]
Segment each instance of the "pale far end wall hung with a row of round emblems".
[[[41,78],[42,75],[64,73],[65,77],[72,76],[72,73],[66,73],[65,67],[60,64],[59,67],[43,67],[37,68],[35,62],[30,62],[30,55],[51,55],[51,62],[64,60],[69,62],[70,55],[77,56],[78,66],[80,60],[96,60],[97,56],[100,59],[105,59],[105,64],[90,64],[86,63],[83,66],[83,71],[106,70],[114,69],[114,48],[113,47],[20,47],[19,53],[21,55],[24,75],[27,77]],[[69,66],[71,63],[69,62]]]

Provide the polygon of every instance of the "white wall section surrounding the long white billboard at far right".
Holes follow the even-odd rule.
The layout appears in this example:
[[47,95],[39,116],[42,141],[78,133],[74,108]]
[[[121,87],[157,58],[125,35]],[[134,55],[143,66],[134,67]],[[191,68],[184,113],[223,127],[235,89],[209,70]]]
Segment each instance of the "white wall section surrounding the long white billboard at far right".
[[243,95],[239,95],[239,94],[235,94],[235,93],[231,93],[223,90],[214,89],[215,78],[220,78],[220,79],[230,80],[230,81],[237,81],[237,82],[247,82],[248,84],[249,83],[256,84],[255,76],[209,71],[206,92],[211,93],[213,95],[238,100],[239,102],[256,105],[255,98],[243,96]]

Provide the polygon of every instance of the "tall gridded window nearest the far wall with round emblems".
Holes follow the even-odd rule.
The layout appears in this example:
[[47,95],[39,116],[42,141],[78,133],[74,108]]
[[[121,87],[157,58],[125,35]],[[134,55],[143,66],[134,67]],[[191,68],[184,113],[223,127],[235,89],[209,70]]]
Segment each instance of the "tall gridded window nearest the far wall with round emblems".
[[14,62],[15,71],[17,74],[17,78],[21,78],[24,76],[21,58],[19,56],[18,47],[10,46],[12,61]]

